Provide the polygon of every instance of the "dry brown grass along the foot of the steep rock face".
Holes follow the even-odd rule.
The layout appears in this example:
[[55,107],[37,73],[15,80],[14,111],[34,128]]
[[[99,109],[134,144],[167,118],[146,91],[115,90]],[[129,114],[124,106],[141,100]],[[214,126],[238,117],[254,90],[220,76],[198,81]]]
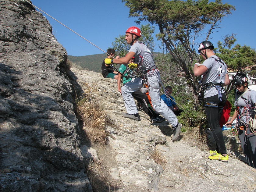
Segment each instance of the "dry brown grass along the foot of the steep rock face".
[[[105,131],[107,113],[104,106],[97,100],[93,93],[97,90],[94,84],[83,84],[86,87],[81,98],[76,98],[76,110],[80,121],[83,123],[83,139],[91,143],[105,145],[108,133]],[[84,159],[87,176],[94,192],[113,191],[115,189],[106,176],[102,160]]]

